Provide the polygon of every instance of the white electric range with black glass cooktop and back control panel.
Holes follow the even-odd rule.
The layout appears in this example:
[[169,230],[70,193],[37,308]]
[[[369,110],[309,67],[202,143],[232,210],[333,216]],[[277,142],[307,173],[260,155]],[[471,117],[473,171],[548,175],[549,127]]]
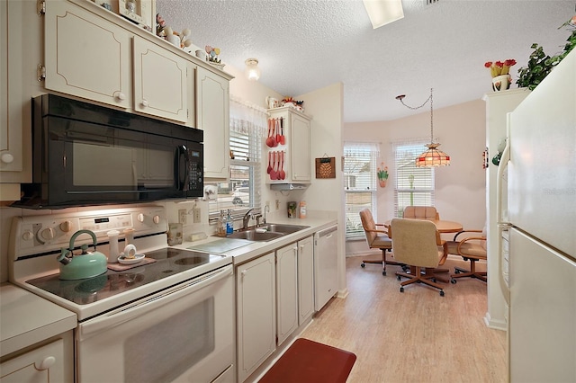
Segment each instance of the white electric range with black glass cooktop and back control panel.
[[[125,229],[133,229],[131,243],[147,263],[122,271],[110,270],[117,266],[111,263],[92,278],[59,279],[57,256],[76,231],[93,231],[96,250],[109,254],[106,233]],[[10,281],[76,313],[78,381],[234,376],[232,260],[168,246],[166,231],[166,209],[157,206],[14,218]],[[92,245],[92,238],[78,236],[75,247],[83,244]],[[158,351],[166,355],[162,363]]]

